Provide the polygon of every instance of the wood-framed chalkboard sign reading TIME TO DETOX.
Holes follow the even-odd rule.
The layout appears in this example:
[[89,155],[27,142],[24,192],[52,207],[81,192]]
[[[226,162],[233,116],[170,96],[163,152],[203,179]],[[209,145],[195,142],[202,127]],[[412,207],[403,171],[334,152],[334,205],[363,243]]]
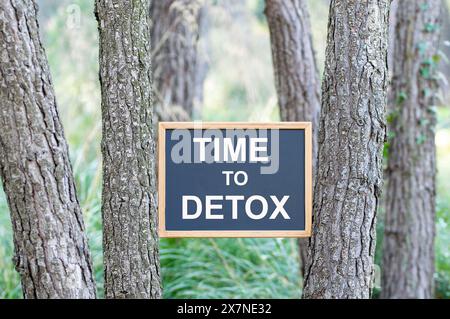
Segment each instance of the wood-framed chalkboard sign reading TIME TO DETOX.
[[308,237],[311,123],[160,122],[161,237]]

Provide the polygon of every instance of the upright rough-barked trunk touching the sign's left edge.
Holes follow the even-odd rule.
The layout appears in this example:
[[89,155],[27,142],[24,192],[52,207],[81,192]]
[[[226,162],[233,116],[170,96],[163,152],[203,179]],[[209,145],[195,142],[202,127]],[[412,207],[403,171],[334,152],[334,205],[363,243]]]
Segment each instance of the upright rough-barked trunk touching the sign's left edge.
[[107,298],[160,298],[150,3],[97,0]]

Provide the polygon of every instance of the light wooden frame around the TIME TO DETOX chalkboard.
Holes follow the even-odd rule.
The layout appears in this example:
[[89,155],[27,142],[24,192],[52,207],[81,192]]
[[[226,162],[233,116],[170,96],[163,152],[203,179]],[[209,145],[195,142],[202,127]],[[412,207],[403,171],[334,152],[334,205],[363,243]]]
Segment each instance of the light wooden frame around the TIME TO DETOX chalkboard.
[[[166,129],[303,129],[305,130],[305,230],[181,230],[165,225],[165,131]],[[312,124],[311,122],[159,122],[158,217],[160,237],[310,237],[312,228]]]

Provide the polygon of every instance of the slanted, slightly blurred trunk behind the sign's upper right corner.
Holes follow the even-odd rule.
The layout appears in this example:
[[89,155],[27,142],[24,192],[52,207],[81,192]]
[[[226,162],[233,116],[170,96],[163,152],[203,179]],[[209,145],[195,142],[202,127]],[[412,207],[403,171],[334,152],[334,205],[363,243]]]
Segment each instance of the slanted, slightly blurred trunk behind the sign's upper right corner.
[[[311,25],[304,0],[266,0],[275,83],[282,121],[313,123],[313,171],[317,157],[320,82]],[[308,239],[299,239],[301,273],[307,264]]]

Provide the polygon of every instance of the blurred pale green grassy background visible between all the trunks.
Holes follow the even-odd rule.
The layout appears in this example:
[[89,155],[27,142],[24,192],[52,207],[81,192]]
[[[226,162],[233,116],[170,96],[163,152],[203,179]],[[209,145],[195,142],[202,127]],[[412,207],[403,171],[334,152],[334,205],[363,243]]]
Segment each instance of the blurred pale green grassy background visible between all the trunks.
[[[447,1],[447,6],[450,0]],[[41,38],[82,205],[99,297],[103,296],[101,234],[101,109],[94,1],[38,0]],[[316,60],[322,74],[328,1],[309,0]],[[209,0],[199,52],[207,63],[203,103],[195,120],[278,121],[264,0]],[[449,55],[444,14],[441,50]],[[448,91],[449,65],[442,61]],[[450,298],[450,100],[438,106],[436,132],[436,297]],[[0,186],[1,188],[1,186]],[[379,292],[383,211],[378,215],[376,285]],[[12,263],[7,202],[0,191],[0,298],[21,298]],[[295,239],[162,239],[165,298],[299,298],[302,278]]]

